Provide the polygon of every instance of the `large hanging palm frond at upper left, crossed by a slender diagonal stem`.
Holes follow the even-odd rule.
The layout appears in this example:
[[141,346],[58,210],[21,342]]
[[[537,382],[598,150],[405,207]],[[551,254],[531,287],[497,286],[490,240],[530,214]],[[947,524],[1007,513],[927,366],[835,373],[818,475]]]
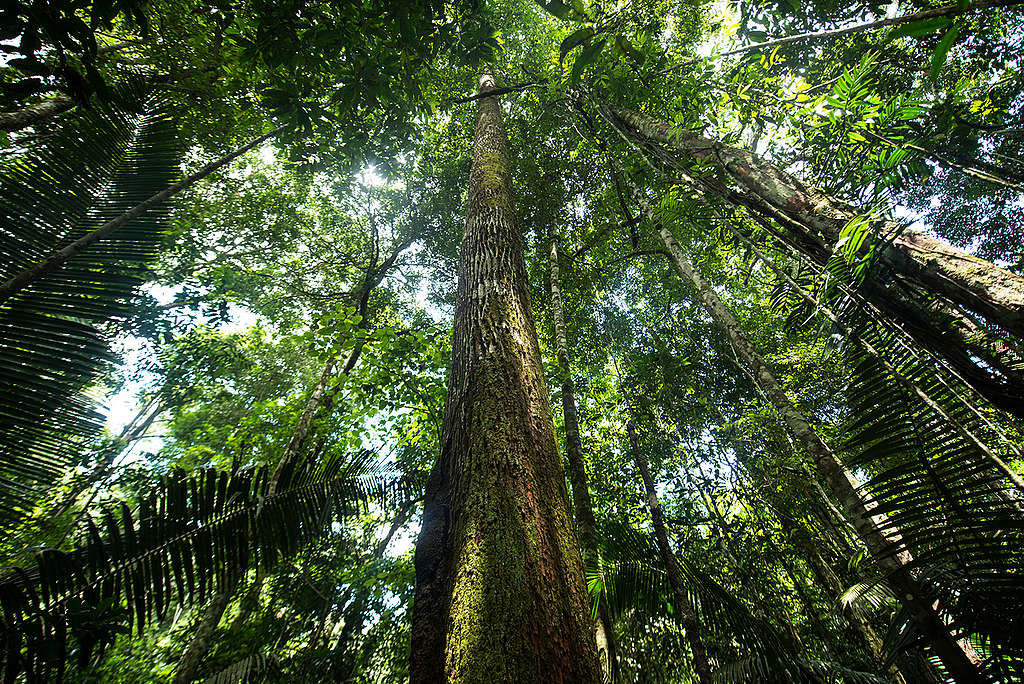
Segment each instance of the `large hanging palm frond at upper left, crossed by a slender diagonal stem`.
[[[168,104],[138,83],[69,120],[0,168],[0,281],[166,187],[180,159]],[[81,390],[114,360],[102,326],[131,314],[165,218],[130,222],[0,306],[0,519],[101,429]]]

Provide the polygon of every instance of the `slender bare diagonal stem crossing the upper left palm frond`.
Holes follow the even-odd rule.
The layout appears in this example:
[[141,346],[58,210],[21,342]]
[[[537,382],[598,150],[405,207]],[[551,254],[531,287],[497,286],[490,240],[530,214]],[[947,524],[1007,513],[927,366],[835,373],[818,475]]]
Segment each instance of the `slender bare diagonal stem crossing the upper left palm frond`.
[[68,259],[72,258],[76,254],[80,254],[85,250],[89,249],[89,247],[94,245],[96,242],[104,238],[109,238],[114,231],[116,231],[125,223],[128,223],[132,219],[138,218],[139,216],[150,211],[154,207],[162,204],[165,200],[168,200],[169,198],[174,197],[175,195],[180,193],[181,190],[190,187],[191,185],[196,184],[197,181],[202,180],[203,178],[207,177],[217,169],[229,164],[233,160],[238,159],[242,155],[246,154],[247,152],[255,147],[256,145],[263,143],[266,140],[269,140],[274,135],[285,130],[285,128],[286,128],[285,126],[279,126],[278,128],[274,128],[270,132],[264,133],[258,138],[255,138],[254,140],[249,141],[248,143],[242,145],[241,147],[238,147],[237,149],[228,153],[227,155],[224,155],[215,162],[207,164],[196,173],[193,173],[191,175],[182,178],[178,182],[169,186],[167,189],[163,189],[157,193],[153,197],[148,198],[147,200],[143,201],[137,206],[132,207],[125,213],[121,214],[117,218],[108,221],[106,223],[99,226],[92,232],[84,234],[75,242],[73,242],[72,244],[68,245],[67,247],[57,250],[56,252],[53,252],[39,263],[33,266],[29,266],[14,277],[10,279],[3,285],[0,285],[0,304],[7,301],[12,296],[17,294],[25,288],[29,287],[39,279],[43,277],[50,271],[59,268],[66,261],[68,261]]

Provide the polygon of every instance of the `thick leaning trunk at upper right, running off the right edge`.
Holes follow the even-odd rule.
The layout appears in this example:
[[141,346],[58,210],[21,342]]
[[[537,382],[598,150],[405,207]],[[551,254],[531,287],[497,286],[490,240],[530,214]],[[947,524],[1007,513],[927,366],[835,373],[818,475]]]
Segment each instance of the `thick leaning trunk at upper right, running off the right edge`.
[[[833,257],[846,225],[862,213],[745,149],[675,130],[636,112],[599,109],[645,155],[701,190],[745,208],[790,249],[819,266]],[[691,176],[666,147],[712,165],[721,179]],[[892,221],[872,221],[871,230],[858,258],[869,245],[877,246],[878,266],[886,272],[868,277],[859,292],[994,405],[1024,416],[1024,374],[1019,371],[1024,356],[978,325],[972,313],[1024,338],[1024,277]],[[920,290],[942,299],[924,302]]]

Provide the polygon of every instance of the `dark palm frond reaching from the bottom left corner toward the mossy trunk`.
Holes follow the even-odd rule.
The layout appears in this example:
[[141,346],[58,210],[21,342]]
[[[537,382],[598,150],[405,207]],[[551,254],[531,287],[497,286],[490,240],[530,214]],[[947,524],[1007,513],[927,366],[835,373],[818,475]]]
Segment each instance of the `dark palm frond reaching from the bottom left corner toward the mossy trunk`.
[[205,601],[256,563],[269,569],[331,521],[402,488],[367,452],[297,458],[273,494],[267,486],[266,468],[176,470],[137,511],[121,505],[89,518],[74,551],[44,550],[34,567],[15,568],[0,582],[6,676],[60,672],[69,636],[88,660],[119,632],[141,630],[172,604]]

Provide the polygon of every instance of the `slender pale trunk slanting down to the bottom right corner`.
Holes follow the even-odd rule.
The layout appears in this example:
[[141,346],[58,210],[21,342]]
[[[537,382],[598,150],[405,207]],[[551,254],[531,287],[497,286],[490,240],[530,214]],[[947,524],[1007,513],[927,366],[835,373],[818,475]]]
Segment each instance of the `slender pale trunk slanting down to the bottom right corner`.
[[975,661],[976,655],[973,652],[966,652],[965,647],[949,633],[947,626],[933,609],[932,601],[906,568],[908,554],[905,552],[894,553],[894,545],[898,546],[899,544],[896,531],[889,530],[890,539],[893,542],[890,543],[882,531],[888,527],[886,520],[871,512],[874,508],[873,505],[869,506],[864,503],[856,490],[853,476],[786,396],[782,385],[761,355],[754,349],[754,345],[751,344],[740,328],[739,322],[683,254],[668,227],[656,220],[639,188],[634,186],[634,191],[651,222],[657,226],[662,242],[670,255],[676,272],[696,290],[705,308],[728,337],[743,364],[751,370],[755,382],[768,397],[788,432],[811,457],[821,479],[825,481],[836,498],[842,502],[847,517],[857,530],[860,540],[867,547],[874,562],[886,572],[888,581],[903,607],[932,646],[936,655],[939,656],[946,670],[958,684],[982,684],[985,680]]

